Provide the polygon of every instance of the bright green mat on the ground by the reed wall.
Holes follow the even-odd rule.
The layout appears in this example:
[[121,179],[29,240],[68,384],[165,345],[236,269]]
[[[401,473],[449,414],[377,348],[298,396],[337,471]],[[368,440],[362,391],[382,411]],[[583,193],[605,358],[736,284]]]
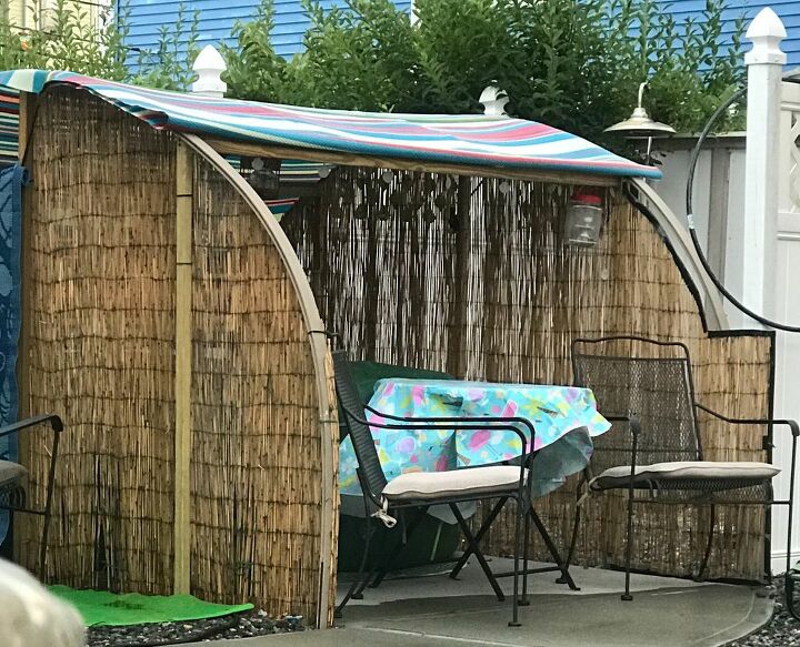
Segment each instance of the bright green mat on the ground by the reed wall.
[[77,590],[61,585],[48,588],[50,593],[74,606],[83,616],[87,627],[199,620],[253,608],[251,604],[216,605],[204,603],[191,595],[162,596],[138,593],[118,595],[107,590]]

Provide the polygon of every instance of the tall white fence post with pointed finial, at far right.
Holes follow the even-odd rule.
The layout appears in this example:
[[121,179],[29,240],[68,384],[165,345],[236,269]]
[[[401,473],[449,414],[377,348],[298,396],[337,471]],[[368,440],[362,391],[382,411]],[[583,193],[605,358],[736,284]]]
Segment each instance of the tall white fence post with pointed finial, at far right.
[[[786,36],[783,23],[769,8],[759,12],[747,31],[753,47],[744,57],[748,65],[744,209],[740,219],[729,222],[727,253],[731,261],[726,272],[730,287],[747,306],[766,316],[776,315],[781,77],[787,60],[780,42]],[[732,323],[754,325],[741,313],[731,314]]]

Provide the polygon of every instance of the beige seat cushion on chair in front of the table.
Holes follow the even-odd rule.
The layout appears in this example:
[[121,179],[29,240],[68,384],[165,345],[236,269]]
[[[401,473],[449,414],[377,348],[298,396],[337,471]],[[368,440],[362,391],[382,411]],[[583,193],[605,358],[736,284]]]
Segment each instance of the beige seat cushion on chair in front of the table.
[[[491,465],[449,472],[412,472],[401,474],[383,489],[392,502],[433,501],[456,496],[496,496],[513,493],[519,486],[520,468]],[[526,471],[527,477],[527,471]]]

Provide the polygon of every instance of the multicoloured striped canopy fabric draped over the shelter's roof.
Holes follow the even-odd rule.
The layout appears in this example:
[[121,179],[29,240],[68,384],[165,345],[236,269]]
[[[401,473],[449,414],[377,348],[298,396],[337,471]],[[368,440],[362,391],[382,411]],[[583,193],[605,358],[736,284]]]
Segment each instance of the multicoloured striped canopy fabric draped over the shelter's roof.
[[213,99],[150,90],[73,72],[0,72],[0,85],[41,92],[51,83],[87,91],[157,129],[259,144],[354,155],[460,164],[492,170],[660,178],[582,138],[556,128],[478,114],[349,112]]

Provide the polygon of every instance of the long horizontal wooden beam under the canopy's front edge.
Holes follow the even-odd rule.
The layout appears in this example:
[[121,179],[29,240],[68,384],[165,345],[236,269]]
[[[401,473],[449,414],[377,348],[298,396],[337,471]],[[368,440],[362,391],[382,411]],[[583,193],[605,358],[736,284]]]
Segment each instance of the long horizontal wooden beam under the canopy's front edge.
[[253,144],[231,140],[207,139],[212,149],[222,155],[244,155],[247,158],[280,158],[282,160],[308,160],[329,162],[343,166],[372,166],[378,169],[398,169],[419,173],[448,173],[450,175],[470,175],[479,178],[500,178],[506,180],[531,180],[559,184],[580,184],[582,186],[620,186],[621,179],[614,175],[592,173],[559,173],[556,171],[516,170],[502,166],[481,166],[469,164],[444,164],[423,160],[400,160],[357,155],[337,151],[317,151],[272,144]]

